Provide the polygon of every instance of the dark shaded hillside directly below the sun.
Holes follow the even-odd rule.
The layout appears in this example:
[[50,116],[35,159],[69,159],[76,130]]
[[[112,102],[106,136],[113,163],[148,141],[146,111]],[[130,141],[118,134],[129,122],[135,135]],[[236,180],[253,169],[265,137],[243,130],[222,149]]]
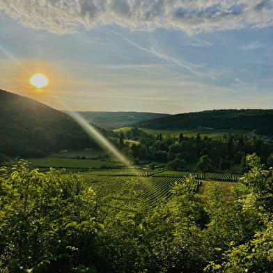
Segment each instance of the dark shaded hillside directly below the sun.
[[0,153],[38,156],[94,146],[70,116],[21,95],[0,90]]

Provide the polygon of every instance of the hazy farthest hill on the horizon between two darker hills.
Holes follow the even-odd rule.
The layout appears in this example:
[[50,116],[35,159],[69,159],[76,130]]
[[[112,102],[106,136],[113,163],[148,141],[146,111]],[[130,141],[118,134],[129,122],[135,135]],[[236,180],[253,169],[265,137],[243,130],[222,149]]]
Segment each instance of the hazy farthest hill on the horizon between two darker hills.
[[[70,111],[64,111],[70,114]],[[157,114],[146,112],[95,112],[95,111],[79,111],[89,123],[93,123],[99,127],[114,130],[121,127],[127,127],[133,123],[150,118],[161,118],[169,116],[169,114]]]

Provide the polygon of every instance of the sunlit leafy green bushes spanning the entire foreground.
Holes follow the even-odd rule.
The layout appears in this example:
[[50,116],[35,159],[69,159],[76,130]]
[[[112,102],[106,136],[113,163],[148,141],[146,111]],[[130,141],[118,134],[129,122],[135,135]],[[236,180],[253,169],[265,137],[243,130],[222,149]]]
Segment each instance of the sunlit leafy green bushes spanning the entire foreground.
[[247,164],[228,200],[217,185],[205,198],[175,185],[155,208],[131,181],[98,197],[76,175],[1,169],[0,271],[271,273],[273,172]]

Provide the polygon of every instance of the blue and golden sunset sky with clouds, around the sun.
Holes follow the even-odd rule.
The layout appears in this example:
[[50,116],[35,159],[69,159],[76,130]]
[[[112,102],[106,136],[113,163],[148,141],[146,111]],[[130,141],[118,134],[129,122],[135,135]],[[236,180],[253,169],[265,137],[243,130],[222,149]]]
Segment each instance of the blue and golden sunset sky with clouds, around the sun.
[[273,0],[0,0],[0,24],[0,89],[55,109],[273,108]]

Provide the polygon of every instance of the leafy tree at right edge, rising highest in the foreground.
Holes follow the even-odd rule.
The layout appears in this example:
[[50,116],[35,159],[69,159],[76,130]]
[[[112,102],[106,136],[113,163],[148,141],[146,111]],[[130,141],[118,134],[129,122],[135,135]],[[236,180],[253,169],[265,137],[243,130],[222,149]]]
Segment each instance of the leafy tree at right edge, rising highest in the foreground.
[[[263,171],[255,153],[247,155],[246,160],[251,167],[242,178],[247,190],[235,200],[235,210],[228,215],[233,223],[230,229],[236,227],[233,233],[240,235],[239,240],[229,240],[228,249],[218,259],[220,264],[210,262],[205,272],[273,272],[273,171]],[[223,229],[221,224],[219,231]]]

